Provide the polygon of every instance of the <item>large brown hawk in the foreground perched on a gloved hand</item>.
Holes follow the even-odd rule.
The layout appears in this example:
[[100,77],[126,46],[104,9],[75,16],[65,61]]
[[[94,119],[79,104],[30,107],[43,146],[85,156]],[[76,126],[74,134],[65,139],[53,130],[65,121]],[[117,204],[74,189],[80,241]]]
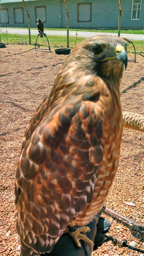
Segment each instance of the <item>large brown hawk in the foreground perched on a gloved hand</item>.
[[[67,227],[72,236],[70,228],[87,225],[103,207],[122,139],[123,65],[122,38],[87,38],[68,56],[32,117],[15,179],[22,255],[52,251]],[[79,239],[91,245],[81,230],[77,228],[77,246]]]

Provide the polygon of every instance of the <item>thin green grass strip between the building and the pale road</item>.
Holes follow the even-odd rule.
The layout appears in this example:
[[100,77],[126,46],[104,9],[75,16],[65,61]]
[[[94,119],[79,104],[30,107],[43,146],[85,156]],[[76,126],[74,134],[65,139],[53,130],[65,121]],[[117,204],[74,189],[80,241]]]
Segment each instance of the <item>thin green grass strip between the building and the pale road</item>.
[[[19,27],[7,27],[7,28],[12,28],[12,29],[28,29],[28,28],[19,28]],[[30,28],[30,29],[36,29],[37,28]],[[66,28],[44,28],[44,30],[61,30],[61,31],[66,31]],[[69,29],[70,31],[87,31],[87,32],[105,32],[105,33],[118,33],[118,29]],[[121,30],[121,33],[125,34],[140,34],[144,35],[144,29],[142,30],[132,30],[132,29],[127,29],[127,30]]]

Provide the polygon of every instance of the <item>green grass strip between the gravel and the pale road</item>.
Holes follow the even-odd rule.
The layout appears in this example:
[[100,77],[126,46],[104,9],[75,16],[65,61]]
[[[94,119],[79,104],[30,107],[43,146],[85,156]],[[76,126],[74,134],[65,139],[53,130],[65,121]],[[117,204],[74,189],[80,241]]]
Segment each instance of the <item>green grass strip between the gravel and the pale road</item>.
[[[8,38],[8,39],[7,39]],[[29,35],[19,35],[19,34],[1,34],[2,43],[8,44],[29,44]],[[84,40],[84,37],[77,37],[77,43]],[[50,47],[67,47],[67,36],[48,36]],[[31,44],[34,45],[36,42],[36,36],[31,35]],[[135,45],[136,53],[144,53],[144,40],[132,40]],[[47,40],[43,37],[43,40],[38,37],[37,45],[45,46],[47,45]],[[69,37],[70,47],[75,47],[75,36]],[[134,53],[134,48],[131,43],[127,43],[127,52]]]

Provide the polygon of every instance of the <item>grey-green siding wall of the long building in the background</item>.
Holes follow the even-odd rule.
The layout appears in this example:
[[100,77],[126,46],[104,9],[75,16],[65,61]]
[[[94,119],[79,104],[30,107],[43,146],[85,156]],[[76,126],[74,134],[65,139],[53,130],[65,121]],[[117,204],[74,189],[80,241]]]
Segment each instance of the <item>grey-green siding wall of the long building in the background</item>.
[[[118,1],[117,0],[67,0],[69,22],[72,28],[118,28]],[[91,3],[91,22],[77,22],[77,4]],[[26,2],[30,14],[30,26],[36,27],[35,7],[46,6],[45,27],[66,27],[67,15],[63,0],[37,0]],[[142,0],[140,20],[131,20],[132,0],[121,0],[122,22],[121,27],[138,29],[144,26],[144,0]],[[24,23],[15,23],[13,8],[23,7]],[[0,9],[8,9],[9,24],[0,26],[28,27],[27,13],[22,2],[1,4]]]

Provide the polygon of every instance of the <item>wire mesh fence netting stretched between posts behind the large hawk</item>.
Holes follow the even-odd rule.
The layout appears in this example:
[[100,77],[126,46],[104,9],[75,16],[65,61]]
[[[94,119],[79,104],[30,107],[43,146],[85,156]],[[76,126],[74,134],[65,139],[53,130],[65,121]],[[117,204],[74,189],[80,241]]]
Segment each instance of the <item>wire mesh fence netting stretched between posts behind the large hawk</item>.
[[[144,1],[142,0],[25,0],[30,20],[31,44],[38,35],[37,19],[44,23],[50,47],[69,47],[97,34],[118,35],[119,5],[121,2],[120,36],[128,38],[136,53],[144,52]],[[1,0],[1,41],[9,44],[29,44],[28,15],[22,0]],[[69,24],[67,24],[69,23]],[[128,41],[128,52],[134,52]],[[46,37],[38,37],[38,47],[48,46]]]

